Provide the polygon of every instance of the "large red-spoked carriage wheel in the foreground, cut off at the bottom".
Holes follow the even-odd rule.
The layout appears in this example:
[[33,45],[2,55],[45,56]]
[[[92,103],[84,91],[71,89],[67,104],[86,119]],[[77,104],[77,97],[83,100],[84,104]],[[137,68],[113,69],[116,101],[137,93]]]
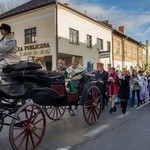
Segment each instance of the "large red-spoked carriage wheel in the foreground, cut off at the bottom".
[[46,117],[35,103],[20,107],[9,129],[9,139],[14,150],[34,150],[41,143],[46,129]]

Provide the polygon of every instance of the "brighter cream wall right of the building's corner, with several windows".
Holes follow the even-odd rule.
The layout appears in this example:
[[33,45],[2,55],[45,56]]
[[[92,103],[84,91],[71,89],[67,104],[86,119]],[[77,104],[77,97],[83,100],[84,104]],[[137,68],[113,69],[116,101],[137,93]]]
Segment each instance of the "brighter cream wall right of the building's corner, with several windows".
[[[69,28],[79,31],[79,45],[69,43]],[[92,36],[92,48],[87,48],[87,34]],[[103,39],[104,50],[107,50],[107,41],[112,43],[110,29],[61,7],[58,9],[58,36],[60,53],[83,56],[84,66],[89,59],[92,59],[95,69],[99,62],[99,54],[96,48],[97,38]]]

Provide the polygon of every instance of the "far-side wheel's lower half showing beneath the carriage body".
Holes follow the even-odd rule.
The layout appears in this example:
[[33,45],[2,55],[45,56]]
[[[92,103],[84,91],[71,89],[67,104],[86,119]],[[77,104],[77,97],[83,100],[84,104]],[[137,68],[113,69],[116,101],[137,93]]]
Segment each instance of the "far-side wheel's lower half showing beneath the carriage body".
[[44,106],[47,117],[51,120],[59,120],[65,113],[66,106]]

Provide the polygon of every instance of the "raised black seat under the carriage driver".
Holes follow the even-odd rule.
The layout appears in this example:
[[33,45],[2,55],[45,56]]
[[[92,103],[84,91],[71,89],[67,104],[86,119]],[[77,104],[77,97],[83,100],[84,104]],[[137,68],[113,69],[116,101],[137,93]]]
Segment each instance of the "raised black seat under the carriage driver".
[[42,66],[36,62],[22,61],[18,64],[9,65],[3,68],[3,73],[9,73],[11,71],[36,70],[41,68]]

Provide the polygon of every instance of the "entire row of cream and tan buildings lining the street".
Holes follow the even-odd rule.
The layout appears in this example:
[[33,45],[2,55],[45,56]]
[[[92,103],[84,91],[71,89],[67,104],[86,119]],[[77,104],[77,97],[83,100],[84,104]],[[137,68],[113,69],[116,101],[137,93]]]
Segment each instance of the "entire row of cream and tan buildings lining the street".
[[113,29],[108,21],[100,22],[56,0],[31,0],[0,15],[17,39],[22,60],[38,57],[54,70],[59,58],[70,66],[72,56],[80,57],[86,68],[97,69],[99,62],[110,67],[131,70],[148,62],[145,46]]

